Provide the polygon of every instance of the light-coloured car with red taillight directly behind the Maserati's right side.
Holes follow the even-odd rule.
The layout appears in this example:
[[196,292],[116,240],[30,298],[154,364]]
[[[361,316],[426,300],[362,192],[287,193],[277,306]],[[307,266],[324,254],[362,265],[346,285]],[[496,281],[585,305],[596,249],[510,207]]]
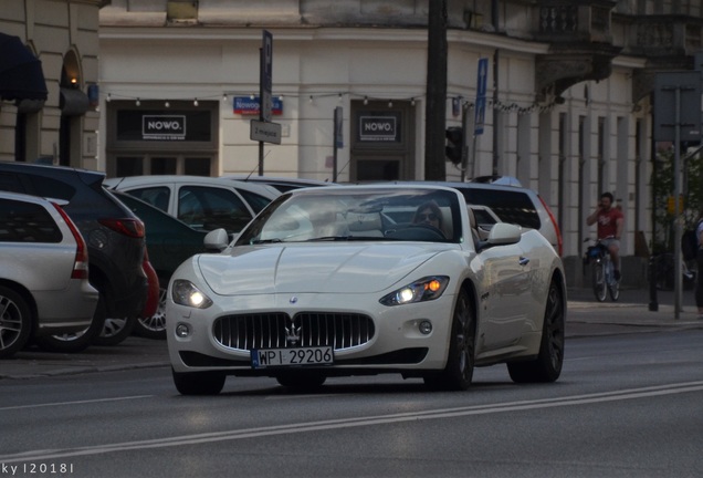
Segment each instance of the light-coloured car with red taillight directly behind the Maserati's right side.
[[459,189],[470,205],[491,208],[503,222],[536,229],[554,247],[559,257],[564,251],[562,231],[549,206],[533,189],[522,187],[508,176],[480,177],[473,181],[396,181],[395,184],[428,184]]

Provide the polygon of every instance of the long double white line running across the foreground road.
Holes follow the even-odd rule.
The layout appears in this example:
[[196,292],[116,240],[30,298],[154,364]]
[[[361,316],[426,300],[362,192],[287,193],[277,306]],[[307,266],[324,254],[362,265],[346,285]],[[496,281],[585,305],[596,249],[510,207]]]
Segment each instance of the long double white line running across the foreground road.
[[374,426],[380,424],[395,424],[403,422],[417,422],[426,419],[455,418],[470,415],[487,415],[494,413],[518,412],[539,408],[553,408],[574,405],[587,405],[606,402],[629,401],[652,396],[675,395],[690,392],[702,392],[703,381],[688,382],[672,385],[658,385],[642,388],[629,388],[616,392],[602,392],[586,395],[573,395],[558,398],[541,398],[524,402],[507,402],[504,404],[473,405],[468,407],[444,408],[426,412],[408,412],[400,414],[339,418],[321,422],[297,423],[290,425],[274,425],[260,428],[245,428],[241,430],[213,432],[196,435],[182,435],[170,438],[156,438],[138,441],[123,441],[112,445],[96,445],[60,450],[33,450],[14,455],[0,456],[0,463],[10,464],[18,461],[41,461],[57,458],[102,455],[115,451],[143,450],[149,448],[167,448],[174,446],[199,445],[214,441],[228,441],[237,439],[256,438],[274,435],[286,435],[306,432],[319,432],[359,426]]

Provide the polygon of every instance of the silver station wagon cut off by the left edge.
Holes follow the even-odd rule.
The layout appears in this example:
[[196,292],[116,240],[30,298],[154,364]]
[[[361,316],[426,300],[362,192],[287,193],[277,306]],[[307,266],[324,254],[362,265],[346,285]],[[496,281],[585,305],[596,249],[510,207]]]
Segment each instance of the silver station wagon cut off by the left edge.
[[0,358],[87,329],[98,293],[83,236],[57,202],[0,191]]

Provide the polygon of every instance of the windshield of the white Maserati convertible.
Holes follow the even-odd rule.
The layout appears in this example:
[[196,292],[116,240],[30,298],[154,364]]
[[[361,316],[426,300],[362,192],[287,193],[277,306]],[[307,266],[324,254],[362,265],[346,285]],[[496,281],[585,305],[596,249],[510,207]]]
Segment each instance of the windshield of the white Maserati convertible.
[[323,240],[460,242],[457,194],[442,189],[315,188],[275,199],[237,245]]

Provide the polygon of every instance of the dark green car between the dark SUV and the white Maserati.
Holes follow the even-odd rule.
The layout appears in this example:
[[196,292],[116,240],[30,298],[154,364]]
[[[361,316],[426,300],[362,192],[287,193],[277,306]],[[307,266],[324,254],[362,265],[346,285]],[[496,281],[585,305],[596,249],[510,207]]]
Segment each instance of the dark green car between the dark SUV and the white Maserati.
[[158,283],[156,310],[137,318],[134,333],[147,339],[166,339],[164,308],[168,281],[186,259],[207,250],[203,245],[207,232],[196,230],[125,191],[114,190],[113,194],[144,222],[149,263]]

